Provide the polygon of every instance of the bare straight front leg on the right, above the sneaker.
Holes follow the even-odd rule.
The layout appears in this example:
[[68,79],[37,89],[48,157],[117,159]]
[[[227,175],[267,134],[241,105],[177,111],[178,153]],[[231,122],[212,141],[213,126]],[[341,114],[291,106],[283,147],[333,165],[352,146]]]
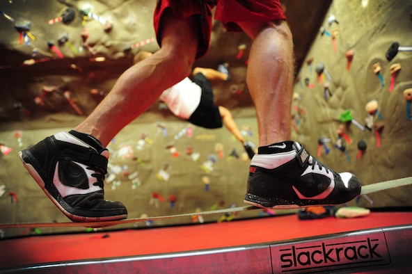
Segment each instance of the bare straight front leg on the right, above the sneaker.
[[256,107],[259,145],[290,140],[290,106],[294,58],[292,34],[286,22],[240,22],[253,39],[247,83]]

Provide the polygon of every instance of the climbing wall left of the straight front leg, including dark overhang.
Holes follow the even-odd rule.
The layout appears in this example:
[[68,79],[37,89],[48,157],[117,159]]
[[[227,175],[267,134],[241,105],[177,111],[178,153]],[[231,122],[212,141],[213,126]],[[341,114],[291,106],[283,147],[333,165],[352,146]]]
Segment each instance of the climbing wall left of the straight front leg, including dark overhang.
[[[132,65],[138,51],[159,48],[152,27],[155,1],[109,2],[0,3],[0,48],[7,53],[0,61],[1,223],[68,220],[35,184],[17,152],[75,127]],[[216,102],[230,108],[241,133],[257,143],[255,111],[245,85],[250,40],[244,33],[225,33],[220,23],[214,30],[215,54],[200,65],[216,68],[221,58],[230,62],[232,81],[213,83]],[[108,149],[105,198],[122,201],[129,218],[243,202],[250,163],[243,146],[226,129],[206,130],[178,120],[161,102],[123,129]],[[238,217],[195,215],[138,227]],[[1,236],[85,229],[11,229]]]

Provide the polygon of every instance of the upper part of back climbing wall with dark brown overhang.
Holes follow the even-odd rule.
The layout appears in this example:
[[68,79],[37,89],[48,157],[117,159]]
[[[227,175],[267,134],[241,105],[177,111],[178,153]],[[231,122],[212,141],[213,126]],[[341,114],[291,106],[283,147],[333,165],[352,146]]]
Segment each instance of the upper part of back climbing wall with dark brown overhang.
[[[73,127],[83,120],[102,99],[100,95],[90,95],[90,90],[97,89],[102,95],[109,92],[118,76],[132,65],[134,54],[159,48],[155,40],[150,40],[154,38],[155,2],[0,1],[0,81],[6,83],[0,92],[0,119],[5,122],[0,124],[0,129]],[[294,32],[296,66],[300,67],[330,1],[283,2]],[[48,24],[68,9],[75,10],[71,21]],[[102,18],[101,22],[90,16],[85,19],[82,10]],[[110,23],[111,29],[105,29],[106,24],[102,22]],[[29,26],[29,33],[35,40],[29,36],[19,40],[16,26]],[[88,33],[85,41],[84,32]],[[68,42],[59,42],[64,35]],[[49,42],[63,58],[49,48]],[[246,45],[240,58],[239,45]],[[237,117],[253,115],[253,104],[245,84],[250,45],[251,40],[244,33],[229,33],[220,22],[214,22],[210,49],[195,64],[217,67],[222,61],[230,63],[232,81],[215,84],[215,100],[231,108]],[[97,57],[104,57],[105,61],[97,62]],[[56,90],[44,95],[43,86],[56,87]],[[72,92],[82,116],[64,99],[65,90]],[[239,92],[234,93],[234,90]],[[35,103],[36,97],[42,99],[42,104]],[[157,104],[146,114],[173,119],[168,113],[159,111]],[[143,115],[139,122],[153,119],[152,115]]]

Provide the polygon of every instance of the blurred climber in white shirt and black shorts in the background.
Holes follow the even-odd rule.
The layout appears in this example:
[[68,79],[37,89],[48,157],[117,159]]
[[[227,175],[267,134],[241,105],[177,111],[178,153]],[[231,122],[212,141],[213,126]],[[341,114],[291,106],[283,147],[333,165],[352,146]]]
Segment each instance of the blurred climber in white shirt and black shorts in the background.
[[[134,64],[152,56],[151,52],[139,51],[134,56]],[[219,129],[225,125],[237,140],[244,146],[250,159],[255,152],[255,145],[241,135],[232,113],[224,106],[216,106],[213,99],[213,88],[209,80],[230,80],[227,65],[219,64],[219,70],[207,67],[195,67],[193,81],[189,77],[184,78],[171,88],[164,90],[159,99],[163,101],[169,110],[178,118],[187,120],[191,124],[206,129]]]

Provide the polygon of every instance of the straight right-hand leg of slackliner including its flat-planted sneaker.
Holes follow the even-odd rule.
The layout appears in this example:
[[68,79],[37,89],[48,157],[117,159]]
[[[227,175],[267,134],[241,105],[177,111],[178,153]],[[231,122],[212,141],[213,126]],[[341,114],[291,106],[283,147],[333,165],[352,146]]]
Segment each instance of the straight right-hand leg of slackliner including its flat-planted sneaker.
[[286,22],[240,22],[253,39],[247,83],[256,106],[259,145],[249,169],[244,202],[289,209],[342,204],[356,198],[361,182],[338,174],[290,140],[294,60]]

